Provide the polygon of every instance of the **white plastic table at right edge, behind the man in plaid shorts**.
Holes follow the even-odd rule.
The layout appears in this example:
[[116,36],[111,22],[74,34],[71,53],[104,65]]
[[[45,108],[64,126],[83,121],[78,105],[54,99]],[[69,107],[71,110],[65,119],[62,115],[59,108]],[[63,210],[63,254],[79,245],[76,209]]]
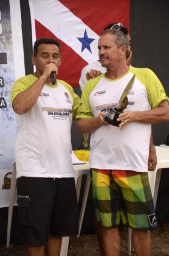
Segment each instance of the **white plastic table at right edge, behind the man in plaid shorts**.
[[[169,148],[164,146],[155,146],[155,148],[157,155],[156,169],[154,171],[148,171],[148,179],[153,196],[154,208],[156,208],[161,171],[164,168],[169,168]],[[128,255],[131,255],[131,233],[132,230],[128,228]]]

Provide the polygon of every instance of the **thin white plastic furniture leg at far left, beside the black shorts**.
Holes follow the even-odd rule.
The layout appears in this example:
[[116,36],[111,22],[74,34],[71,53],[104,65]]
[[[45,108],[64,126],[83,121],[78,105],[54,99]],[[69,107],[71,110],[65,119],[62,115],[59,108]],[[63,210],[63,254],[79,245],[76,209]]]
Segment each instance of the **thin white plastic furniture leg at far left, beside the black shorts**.
[[10,244],[10,230],[11,230],[11,224],[12,224],[15,191],[16,191],[16,164],[13,163],[12,179],[10,183],[9,214],[8,214],[8,223],[7,223],[7,247],[9,247],[9,244]]

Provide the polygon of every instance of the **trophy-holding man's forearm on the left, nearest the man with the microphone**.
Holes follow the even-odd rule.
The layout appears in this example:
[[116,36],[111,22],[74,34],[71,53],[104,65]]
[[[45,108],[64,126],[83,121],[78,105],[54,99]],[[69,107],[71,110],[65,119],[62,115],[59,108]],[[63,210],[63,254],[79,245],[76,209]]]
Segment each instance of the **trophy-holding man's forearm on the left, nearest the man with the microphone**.
[[77,130],[79,133],[91,133],[100,128],[103,124],[98,118],[80,118],[77,119]]

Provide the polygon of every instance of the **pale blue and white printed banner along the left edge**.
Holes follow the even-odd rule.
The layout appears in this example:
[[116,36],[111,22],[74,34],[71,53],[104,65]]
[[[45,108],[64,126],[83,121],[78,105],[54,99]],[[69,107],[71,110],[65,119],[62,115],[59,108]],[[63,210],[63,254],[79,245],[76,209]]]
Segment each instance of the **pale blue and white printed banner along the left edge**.
[[[18,5],[17,5],[18,4]],[[0,4],[0,207],[9,206],[10,180],[17,133],[15,113],[10,104],[10,90],[19,76],[24,76],[21,15],[18,0]],[[18,21],[20,17],[20,20]],[[16,26],[15,26],[16,25]],[[20,27],[20,30],[19,30]],[[20,33],[21,34],[21,33]],[[18,58],[19,56],[19,58]],[[19,70],[19,71],[18,71]]]

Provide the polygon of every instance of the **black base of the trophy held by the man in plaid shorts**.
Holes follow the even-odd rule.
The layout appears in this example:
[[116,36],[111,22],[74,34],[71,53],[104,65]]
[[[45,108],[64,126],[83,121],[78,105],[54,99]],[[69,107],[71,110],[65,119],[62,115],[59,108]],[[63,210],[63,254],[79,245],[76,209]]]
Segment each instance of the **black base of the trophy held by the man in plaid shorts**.
[[104,120],[112,126],[119,126],[121,121],[117,121],[117,118],[119,118],[119,115],[122,112],[122,110],[117,110],[116,107],[109,108],[107,115],[104,116]]

